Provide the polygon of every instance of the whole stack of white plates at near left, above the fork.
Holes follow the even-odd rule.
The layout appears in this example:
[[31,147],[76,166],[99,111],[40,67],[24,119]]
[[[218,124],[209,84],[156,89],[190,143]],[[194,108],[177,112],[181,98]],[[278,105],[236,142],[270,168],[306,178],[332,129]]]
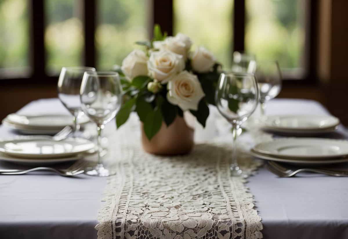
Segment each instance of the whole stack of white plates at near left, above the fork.
[[56,141],[33,137],[0,141],[0,160],[19,164],[53,164],[80,159],[93,150],[93,142],[82,138]]

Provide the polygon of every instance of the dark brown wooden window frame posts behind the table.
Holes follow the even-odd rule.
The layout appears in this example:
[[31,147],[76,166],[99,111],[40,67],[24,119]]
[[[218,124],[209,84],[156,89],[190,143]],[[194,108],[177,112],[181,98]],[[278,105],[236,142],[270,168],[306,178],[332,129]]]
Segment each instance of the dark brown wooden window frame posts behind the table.
[[[233,40],[232,51],[244,51],[245,48],[245,17],[246,0],[235,0],[233,14]],[[80,0],[82,6],[82,22],[84,25],[85,42],[82,53],[82,62],[86,66],[96,66],[96,46],[95,30],[97,25],[97,0]],[[314,85],[317,80],[317,10],[316,0],[306,0],[306,41],[304,44],[304,74],[303,78],[284,77],[284,85]],[[46,72],[46,51],[44,42],[45,32],[45,0],[28,0],[30,16],[30,65],[31,72],[28,77],[13,77],[0,79],[1,84],[56,84],[58,76],[49,76]],[[173,0],[147,0],[148,3],[148,32],[152,37],[154,24],[160,24],[161,28],[168,33],[173,34]],[[238,19],[238,21],[236,21]],[[238,23],[238,24],[237,24]],[[231,52],[232,55],[233,52]]]

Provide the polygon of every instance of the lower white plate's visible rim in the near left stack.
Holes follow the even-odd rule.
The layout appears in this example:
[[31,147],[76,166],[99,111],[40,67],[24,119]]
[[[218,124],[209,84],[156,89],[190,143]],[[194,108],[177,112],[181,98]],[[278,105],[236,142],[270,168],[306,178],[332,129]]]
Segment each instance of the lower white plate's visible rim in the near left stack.
[[56,163],[64,163],[69,161],[76,161],[78,159],[81,159],[83,156],[84,155],[82,154],[78,154],[70,157],[61,157],[57,159],[23,159],[19,157],[12,157],[0,152],[0,160],[22,165],[49,165]]

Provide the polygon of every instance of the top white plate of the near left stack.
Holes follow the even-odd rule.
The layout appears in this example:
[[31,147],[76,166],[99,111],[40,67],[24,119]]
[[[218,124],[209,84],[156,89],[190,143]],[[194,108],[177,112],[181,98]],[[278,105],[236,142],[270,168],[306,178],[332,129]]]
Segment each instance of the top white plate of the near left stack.
[[70,157],[94,149],[93,142],[82,138],[15,139],[0,142],[0,151],[14,157],[30,159]]

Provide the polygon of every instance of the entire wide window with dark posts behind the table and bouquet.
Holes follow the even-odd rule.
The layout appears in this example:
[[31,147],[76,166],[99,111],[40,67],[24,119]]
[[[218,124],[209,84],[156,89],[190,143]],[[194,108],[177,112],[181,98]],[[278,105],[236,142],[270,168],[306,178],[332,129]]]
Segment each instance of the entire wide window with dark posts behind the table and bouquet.
[[205,46],[225,68],[234,51],[247,51],[261,60],[277,59],[285,77],[315,79],[309,74],[316,72],[316,5],[315,0],[0,0],[0,77],[7,78],[1,83],[56,84],[63,66],[110,70],[136,40],[151,36],[153,24],[189,35],[193,47]]

